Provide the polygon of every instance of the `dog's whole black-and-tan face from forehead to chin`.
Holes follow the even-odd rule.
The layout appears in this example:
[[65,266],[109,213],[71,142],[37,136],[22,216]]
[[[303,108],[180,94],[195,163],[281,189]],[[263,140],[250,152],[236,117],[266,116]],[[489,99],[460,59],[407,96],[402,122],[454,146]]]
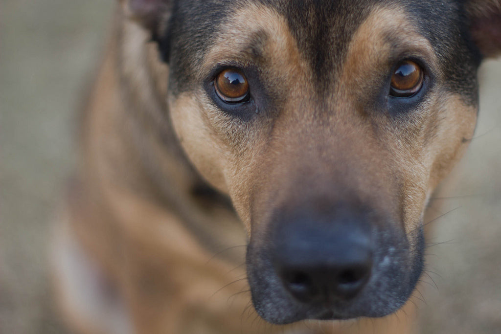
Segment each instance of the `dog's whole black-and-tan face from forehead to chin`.
[[501,3],[129,8],[169,64],[181,146],[246,228],[259,314],[289,323],[401,307],[423,267],[427,199],[474,131],[481,52],[501,49]]

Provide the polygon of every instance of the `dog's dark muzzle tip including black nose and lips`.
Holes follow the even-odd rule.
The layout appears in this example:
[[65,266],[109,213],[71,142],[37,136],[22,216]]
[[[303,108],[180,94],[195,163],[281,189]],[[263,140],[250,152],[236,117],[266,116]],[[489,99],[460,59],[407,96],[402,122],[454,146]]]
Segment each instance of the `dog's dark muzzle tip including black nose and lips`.
[[346,320],[403,306],[423,267],[422,229],[405,235],[357,221],[292,222],[270,233],[268,240],[281,239],[272,246],[251,237],[247,276],[261,317],[275,324]]

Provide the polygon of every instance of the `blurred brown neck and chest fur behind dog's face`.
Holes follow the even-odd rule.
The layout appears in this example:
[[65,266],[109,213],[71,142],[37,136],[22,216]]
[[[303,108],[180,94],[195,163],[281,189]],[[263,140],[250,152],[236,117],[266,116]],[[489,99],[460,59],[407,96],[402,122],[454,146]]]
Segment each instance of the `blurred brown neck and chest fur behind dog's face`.
[[[132,36],[125,38],[134,39]],[[134,164],[131,164],[136,151],[124,147],[127,142],[131,145],[130,138],[125,139],[123,133],[116,133],[118,129],[131,133],[131,128],[123,126],[127,120],[119,117],[125,116],[119,112],[125,107],[118,98],[121,84],[117,73],[120,65],[117,64],[119,58],[116,47],[116,44],[112,44],[107,53],[89,105],[84,132],[91,128],[94,131],[92,136],[84,134],[84,137],[88,155],[85,161],[91,163],[85,169],[90,175],[75,187],[74,195],[70,197],[68,216],[61,217],[62,225],[58,225],[58,234],[62,234],[60,246],[68,235],[75,235],[86,252],[90,251],[90,256],[103,271],[104,279],[119,282],[115,288],[124,294],[121,302],[125,303],[133,315],[135,332],[283,332],[283,327],[274,329],[263,322],[255,323],[254,312],[248,308],[248,295],[241,293],[248,288],[246,282],[240,280],[231,283],[234,277],[242,277],[244,268],[238,267],[238,263],[243,259],[238,256],[237,261],[228,263],[221,261],[219,257],[212,258],[212,254],[200,248],[190,231],[169,210],[154,204],[154,198],[150,198],[152,201],[145,200],[144,196],[147,196],[146,199],[150,196],[148,189],[144,188],[149,182],[141,177],[140,168],[134,168]],[[137,69],[141,67],[138,66]],[[136,80],[138,78],[140,76],[135,77]],[[154,108],[152,105],[149,107]],[[100,145],[104,138],[106,145]],[[154,143],[155,141],[150,142]],[[167,158],[165,159],[167,162]],[[113,162],[112,166],[118,168],[110,168],[112,166],[106,161]],[[127,167],[125,170],[120,168],[124,163]],[[162,166],[168,168],[168,163]],[[126,187],[114,184],[113,181],[122,171],[128,174],[129,185]],[[180,182],[179,188],[182,189],[193,181],[178,174],[180,171],[175,168],[172,170],[176,173],[173,179]],[[224,217],[229,221],[235,219],[225,210],[215,211],[211,216],[216,220],[224,220]],[[148,221],[148,224],[138,224],[138,221]],[[229,232],[224,232],[228,225],[231,227],[236,222],[213,221],[211,226],[217,224],[221,227],[217,232],[212,231],[213,234],[219,234],[221,239],[231,240],[230,245],[244,242],[239,233],[233,232],[228,236]],[[64,249],[58,248],[57,251]],[[151,256],[152,254],[156,255]],[[196,279],[193,270],[199,272],[195,274]],[[59,273],[59,276],[64,277],[65,273]],[[186,277],[193,278],[187,280]],[[63,289],[64,280],[65,278],[60,278],[58,285]],[[231,285],[226,287],[228,283]],[[74,328],[87,333],[112,332],[102,329],[108,328],[106,324],[87,318],[85,312],[72,302],[72,298],[68,291],[61,291],[60,303],[67,321]],[[409,304],[402,312],[410,314],[413,307]],[[401,317],[405,319],[406,316],[408,315]],[[375,333],[388,333],[390,328],[398,333],[407,332],[406,320],[398,316],[392,318],[394,321],[382,319],[340,325],[312,321],[303,329],[299,326],[299,330],[310,331],[308,328],[314,328],[311,332],[331,330],[332,333],[342,331],[349,334],[365,331],[363,328],[367,327],[367,330]],[[246,327],[251,329],[247,331]]]

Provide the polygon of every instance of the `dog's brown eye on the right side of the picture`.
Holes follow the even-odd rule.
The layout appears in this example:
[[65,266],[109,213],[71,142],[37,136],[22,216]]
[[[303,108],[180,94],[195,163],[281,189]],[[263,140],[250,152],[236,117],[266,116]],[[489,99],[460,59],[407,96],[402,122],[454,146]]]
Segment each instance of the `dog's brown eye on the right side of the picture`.
[[390,95],[408,98],[419,92],[423,85],[423,70],[410,60],[400,62],[391,77]]

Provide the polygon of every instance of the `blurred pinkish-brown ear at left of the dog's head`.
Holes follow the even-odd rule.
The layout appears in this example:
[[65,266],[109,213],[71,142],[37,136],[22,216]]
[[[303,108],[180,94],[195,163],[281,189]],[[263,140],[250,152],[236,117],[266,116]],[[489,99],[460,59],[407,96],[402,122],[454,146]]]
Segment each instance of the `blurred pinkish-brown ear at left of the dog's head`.
[[174,0],[120,0],[126,15],[154,35],[168,20]]

